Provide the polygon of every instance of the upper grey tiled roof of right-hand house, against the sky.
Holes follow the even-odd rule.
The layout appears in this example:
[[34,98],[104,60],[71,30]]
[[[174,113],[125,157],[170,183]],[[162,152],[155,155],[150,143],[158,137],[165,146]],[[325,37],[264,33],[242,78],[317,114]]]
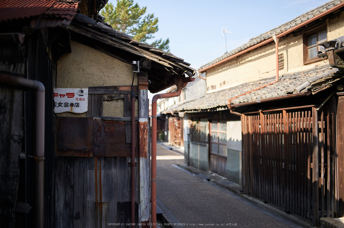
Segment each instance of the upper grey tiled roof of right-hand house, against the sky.
[[256,36],[256,37],[250,39],[248,43],[240,46],[239,48],[237,48],[237,49],[235,49],[233,51],[229,51],[226,54],[220,56],[219,58],[217,58],[217,59],[215,59],[215,60],[213,60],[213,61],[211,61],[211,62],[209,62],[209,63],[207,63],[207,64],[205,64],[203,66],[201,66],[199,68],[199,70],[201,70],[203,68],[206,68],[208,66],[211,66],[211,65],[213,65],[213,64],[215,64],[217,62],[220,62],[221,60],[224,60],[225,58],[227,58],[227,57],[229,57],[231,55],[234,55],[234,54],[236,54],[236,53],[238,53],[240,51],[243,51],[243,50],[245,50],[247,48],[250,48],[250,47],[252,47],[252,46],[254,46],[254,45],[256,45],[256,44],[258,44],[258,43],[260,43],[260,42],[262,42],[264,40],[267,40],[267,39],[271,38],[273,34],[278,35],[278,34],[284,32],[284,31],[287,31],[288,29],[290,29],[292,27],[295,27],[295,26],[297,26],[297,25],[307,21],[307,20],[317,16],[318,14],[323,13],[326,10],[329,10],[329,9],[333,8],[334,6],[336,6],[336,5],[340,4],[340,3],[342,3],[342,0],[332,0],[332,1],[329,1],[329,2],[327,2],[327,3],[317,7],[315,9],[311,10],[311,11],[308,11],[307,13],[304,13],[304,14],[298,16],[297,18],[295,18],[295,19],[293,19],[293,20],[291,20],[291,21],[289,21],[289,22],[287,22],[287,23],[285,23],[285,24],[283,24],[281,26],[278,26],[278,27],[276,27],[276,28],[274,28],[274,29],[272,29],[272,30],[270,30],[268,32],[265,32],[265,33],[263,33],[263,34],[261,34],[259,36]]

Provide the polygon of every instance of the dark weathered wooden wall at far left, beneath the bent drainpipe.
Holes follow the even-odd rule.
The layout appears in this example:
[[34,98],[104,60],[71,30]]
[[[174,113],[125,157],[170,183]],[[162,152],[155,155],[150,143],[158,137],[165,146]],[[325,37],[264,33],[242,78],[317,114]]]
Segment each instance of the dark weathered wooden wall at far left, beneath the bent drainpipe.
[[0,87],[0,221],[14,227],[24,137],[23,91]]

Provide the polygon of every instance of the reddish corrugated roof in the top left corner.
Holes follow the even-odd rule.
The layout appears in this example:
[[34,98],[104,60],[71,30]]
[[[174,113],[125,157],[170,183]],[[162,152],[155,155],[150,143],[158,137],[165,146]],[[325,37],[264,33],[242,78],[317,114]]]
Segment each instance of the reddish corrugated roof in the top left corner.
[[0,22],[32,19],[31,27],[69,25],[79,1],[75,0],[2,0]]

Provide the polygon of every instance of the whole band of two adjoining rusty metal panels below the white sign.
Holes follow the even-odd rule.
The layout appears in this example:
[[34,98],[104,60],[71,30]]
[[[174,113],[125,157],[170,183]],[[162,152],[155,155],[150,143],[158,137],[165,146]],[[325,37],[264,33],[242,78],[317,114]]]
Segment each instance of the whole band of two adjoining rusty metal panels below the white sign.
[[[138,123],[135,123],[136,129]],[[125,140],[124,121],[98,118],[57,117],[56,155],[78,157],[130,157],[131,143]],[[135,131],[135,156],[139,156],[138,130]],[[142,153],[140,156],[147,156]]]

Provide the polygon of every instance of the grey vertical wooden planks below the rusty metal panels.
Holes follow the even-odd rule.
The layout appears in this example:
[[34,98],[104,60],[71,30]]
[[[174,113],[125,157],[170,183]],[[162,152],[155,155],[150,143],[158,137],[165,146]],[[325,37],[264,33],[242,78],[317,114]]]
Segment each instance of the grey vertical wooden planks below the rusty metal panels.
[[[101,228],[108,223],[130,223],[128,162],[127,157],[59,157],[55,173],[55,227]],[[138,169],[135,171],[135,182],[139,183]],[[139,198],[137,184],[136,206]],[[138,223],[137,215],[138,210]]]

